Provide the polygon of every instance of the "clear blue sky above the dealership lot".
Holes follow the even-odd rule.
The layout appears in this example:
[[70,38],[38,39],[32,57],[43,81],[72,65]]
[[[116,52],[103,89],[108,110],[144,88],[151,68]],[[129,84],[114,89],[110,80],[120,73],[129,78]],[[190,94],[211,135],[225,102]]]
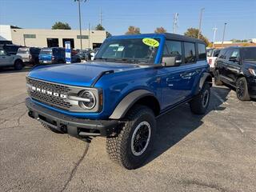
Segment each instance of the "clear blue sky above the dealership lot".
[[[138,26],[141,33],[152,33],[163,26],[173,32],[174,14],[178,13],[178,34],[199,26],[202,34],[215,41],[256,38],[256,0],[87,0],[81,3],[82,29],[97,26],[102,10],[102,26],[111,34],[126,33]],[[78,2],[74,0],[0,0],[0,24],[32,29],[50,29],[54,22],[67,22],[78,29]]]

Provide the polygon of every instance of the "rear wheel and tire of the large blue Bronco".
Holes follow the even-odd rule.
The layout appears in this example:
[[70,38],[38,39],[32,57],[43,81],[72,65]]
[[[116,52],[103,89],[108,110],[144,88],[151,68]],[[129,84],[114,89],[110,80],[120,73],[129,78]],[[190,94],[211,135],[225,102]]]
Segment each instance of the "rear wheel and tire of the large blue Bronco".
[[[206,94],[208,98],[205,98]],[[206,110],[209,106],[209,103],[210,103],[210,85],[208,82],[205,82],[199,94],[190,101],[190,110],[194,114],[206,114]]]

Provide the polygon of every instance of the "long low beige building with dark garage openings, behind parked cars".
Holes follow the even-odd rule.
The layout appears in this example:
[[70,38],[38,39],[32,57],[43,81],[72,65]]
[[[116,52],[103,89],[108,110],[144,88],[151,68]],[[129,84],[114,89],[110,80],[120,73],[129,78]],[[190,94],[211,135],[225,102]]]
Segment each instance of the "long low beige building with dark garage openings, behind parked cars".
[[[106,39],[106,30],[82,30],[82,49],[94,49]],[[22,29],[18,26],[0,25],[0,41],[11,41],[21,46],[64,47],[69,41],[71,47],[80,49],[79,30]]]

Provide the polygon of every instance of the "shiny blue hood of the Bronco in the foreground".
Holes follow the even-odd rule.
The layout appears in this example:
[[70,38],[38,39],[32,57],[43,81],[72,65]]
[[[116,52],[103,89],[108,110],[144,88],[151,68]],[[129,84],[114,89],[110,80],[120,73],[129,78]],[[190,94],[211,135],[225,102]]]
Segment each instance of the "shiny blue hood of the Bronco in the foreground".
[[[114,70],[118,73],[126,70],[140,69],[142,66],[117,62],[86,62],[50,66],[37,66],[30,71],[30,78],[47,82],[58,82],[71,86],[90,86],[103,71]],[[146,67],[146,66],[143,66]]]

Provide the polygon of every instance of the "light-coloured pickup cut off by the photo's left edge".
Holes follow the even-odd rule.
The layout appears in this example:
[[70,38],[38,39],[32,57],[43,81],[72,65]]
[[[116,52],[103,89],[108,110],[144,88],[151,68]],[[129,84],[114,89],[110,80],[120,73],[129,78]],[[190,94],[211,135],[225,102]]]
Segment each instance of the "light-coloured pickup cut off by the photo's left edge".
[[15,70],[22,70],[22,57],[19,55],[8,54],[6,50],[0,49],[0,67],[14,66]]

